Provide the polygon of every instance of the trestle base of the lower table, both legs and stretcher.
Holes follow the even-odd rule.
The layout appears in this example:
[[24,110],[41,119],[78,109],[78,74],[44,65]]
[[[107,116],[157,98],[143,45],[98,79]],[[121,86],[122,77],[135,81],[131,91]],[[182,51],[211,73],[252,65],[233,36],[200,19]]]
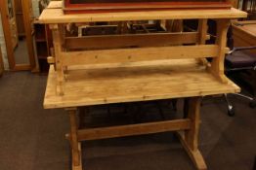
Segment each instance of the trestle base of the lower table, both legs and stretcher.
[[78,112],[76,108],[66,111],[70,118],[70,133],[66,138],[70,141],[72,150],[72,170],[82,170],[81,141],[107,139],[166,131],[177,131],[179,139],[198,170],[206,170],[206,164],[198,150],[198,132],[200,122],[201,97],[188,99],[188,116],[184,119],[164,120],[140,124],[119,125],[111,127],[78,129]]

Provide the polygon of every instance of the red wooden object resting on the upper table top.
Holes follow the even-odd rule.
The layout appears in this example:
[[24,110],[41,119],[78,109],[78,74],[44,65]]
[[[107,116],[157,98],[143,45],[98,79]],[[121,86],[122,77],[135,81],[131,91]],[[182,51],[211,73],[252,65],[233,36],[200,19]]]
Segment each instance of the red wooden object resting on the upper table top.
[[64,0],[64,14],[230,9],[228,0]]

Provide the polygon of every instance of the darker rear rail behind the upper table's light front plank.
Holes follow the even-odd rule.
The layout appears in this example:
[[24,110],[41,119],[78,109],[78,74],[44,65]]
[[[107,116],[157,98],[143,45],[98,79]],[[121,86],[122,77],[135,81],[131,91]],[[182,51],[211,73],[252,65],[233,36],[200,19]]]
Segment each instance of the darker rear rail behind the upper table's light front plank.
[[157,47],[182,44],[195,44],[198,40],[197,32],[183,33],[152,33],[126,34],[65,38],[64,48],[67,50],[81,50],[90,48],[125,48],[125,47]]

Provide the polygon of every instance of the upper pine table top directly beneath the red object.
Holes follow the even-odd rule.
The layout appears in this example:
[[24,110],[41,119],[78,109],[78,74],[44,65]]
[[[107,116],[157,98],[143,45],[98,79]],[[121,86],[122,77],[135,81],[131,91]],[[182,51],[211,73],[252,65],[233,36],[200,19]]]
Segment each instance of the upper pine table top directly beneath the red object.
[[235,8],[228,10],[169,10],[149,12],[120,12],[103,14],[64,15],[62,1],[50,2],[39,20],[41,23],[70,23],[93,21],[150,20],[150,19],[185,19],[185,18],[238,18],[247,17],[245,12]]

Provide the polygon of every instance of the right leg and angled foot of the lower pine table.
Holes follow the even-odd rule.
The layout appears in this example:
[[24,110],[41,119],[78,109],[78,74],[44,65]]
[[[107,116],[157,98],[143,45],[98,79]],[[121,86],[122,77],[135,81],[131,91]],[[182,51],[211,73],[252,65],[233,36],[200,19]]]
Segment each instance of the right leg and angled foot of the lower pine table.
[[206,164],[198,150],[198,133],[200,124],[200,102],[201,97],[188,99],[188,119],[191,119],[192,126],[184,133],[178,133],[180,141],[187,153],[192,158],[192,162],[198,170],[206,170]]

